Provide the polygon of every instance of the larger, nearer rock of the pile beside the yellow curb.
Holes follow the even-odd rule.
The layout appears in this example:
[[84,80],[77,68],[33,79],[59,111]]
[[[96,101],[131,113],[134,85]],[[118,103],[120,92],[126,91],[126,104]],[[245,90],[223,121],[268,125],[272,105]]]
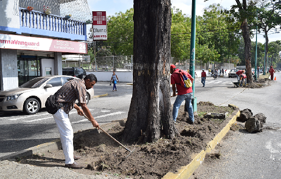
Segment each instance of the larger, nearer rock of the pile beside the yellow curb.
[[266,117],[264,114],[256,114],[246,121],[245,128],[248,132],[262,132],[265,121]]

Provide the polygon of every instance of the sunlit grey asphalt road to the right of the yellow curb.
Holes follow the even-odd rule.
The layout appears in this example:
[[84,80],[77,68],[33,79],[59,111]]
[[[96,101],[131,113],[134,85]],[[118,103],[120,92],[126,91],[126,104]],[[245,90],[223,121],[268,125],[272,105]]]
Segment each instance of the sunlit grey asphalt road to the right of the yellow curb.
[[216,105],[231,103],[241,110],[251,109],[253,115],[263,113],[267,117],[264,131],[229,132],[212,151],[221,153],[221,159],[203,162],[190,179],[281,178],[281,73],[275,76],[277,81],[263,88],[229,88],[231,94],[219,92]]

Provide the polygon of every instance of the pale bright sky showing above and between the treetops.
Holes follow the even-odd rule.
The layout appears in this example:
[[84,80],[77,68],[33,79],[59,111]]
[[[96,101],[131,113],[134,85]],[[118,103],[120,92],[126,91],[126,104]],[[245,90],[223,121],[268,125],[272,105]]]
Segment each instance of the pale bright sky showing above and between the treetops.
[[[192,12],[192,1],[191,0],[171,0],[172,7],[180,9],[182,13],[191,16]],[[222,7],[230,9],[232,5],[235,5],[235,0],[209,0],[204,2],[204,0],[196,0],[196,15],[202,16],[203,9],[212,4],[221,4]],[[115,15],[115,13],[126,12],[127,9],[133,8],[133,0],[88,0],[90,11],[106,11],[106,15]],[[90,26],[87,25],[87,29]],[[280,30],[280,27],[277,29]],[[272,34],[271,34],[272,33]],[[279,34],[274,31],[268,33],[268,39],[270,41],[281,40],[281,32]],[[257,41],[264,43],[264,33],[257,34]],[[251,39],[255,41],[255,37]]]

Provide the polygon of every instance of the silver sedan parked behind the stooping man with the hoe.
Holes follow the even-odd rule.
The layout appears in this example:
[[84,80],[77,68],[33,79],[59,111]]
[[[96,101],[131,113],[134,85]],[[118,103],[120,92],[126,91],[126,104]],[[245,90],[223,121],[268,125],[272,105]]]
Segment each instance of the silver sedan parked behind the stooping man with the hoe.
[[[0,111],[24,111],[28,115],[45,107],[50,95],[54,95],[62,85],[76,77],[44,76],[34,78],[21,86],[0,92]],[[78,78],[77,78],[78,79]],[[93,88],[87,89],[87,104],[93,97]]]

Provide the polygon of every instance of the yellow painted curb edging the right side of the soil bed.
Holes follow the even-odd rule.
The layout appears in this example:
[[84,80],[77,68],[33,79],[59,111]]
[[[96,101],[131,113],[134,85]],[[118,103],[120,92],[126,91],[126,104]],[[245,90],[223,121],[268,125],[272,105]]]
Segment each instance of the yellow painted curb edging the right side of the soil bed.
[[200,166],[200,164],[204,161],[206,153],[212,151],[216,145],[222,140],[222,138],[226,135],[231,125],[236,122],[237,117],[240,116],[240,110],[238,110],[237,114],[232,117],[232,119],[227,123],[227,125],[218,133],[218,135],[207,144],[205,150],[202,150],[198,153],[192,162],[186,166],[182,166],[177,173],[168,172],[163,179],[180,179],[180,178],[189,178],[194,171]]

